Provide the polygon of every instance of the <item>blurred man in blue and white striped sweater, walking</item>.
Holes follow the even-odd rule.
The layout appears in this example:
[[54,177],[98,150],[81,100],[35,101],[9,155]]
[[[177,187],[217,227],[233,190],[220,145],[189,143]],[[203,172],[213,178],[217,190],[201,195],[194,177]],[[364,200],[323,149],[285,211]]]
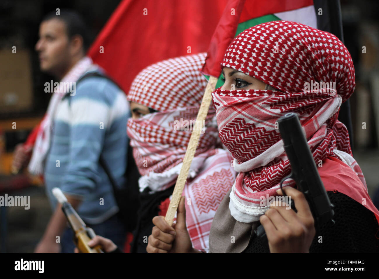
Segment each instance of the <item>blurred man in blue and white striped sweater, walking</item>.
[[[54,93],[36,132],[28,169],[44,175],[54,212],[35,252],[74,252],[74,235],[52,195],[54,187],[65,193],[97,234],[120,247],[125,239],[112,187],[99,158],[121,184],[130,109],[125,94],[113,82],[88,76],[103,71],[85,56],[88,46],[88,30],[77,13],[61,10],[60,15],[54,12],[42,20],[36,50],[41,70],[56,80],[45,83],[45,92],[54,87]],[[18,151],[14,165],[22,167],[28,160],[28,149],[18,147]]]

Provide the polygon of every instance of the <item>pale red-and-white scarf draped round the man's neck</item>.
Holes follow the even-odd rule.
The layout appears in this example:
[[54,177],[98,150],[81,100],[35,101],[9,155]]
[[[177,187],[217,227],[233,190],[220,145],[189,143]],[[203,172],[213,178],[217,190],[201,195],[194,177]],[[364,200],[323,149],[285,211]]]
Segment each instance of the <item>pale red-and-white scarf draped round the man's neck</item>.
[[50,137],[56,109],[63,96],[67,93],[66,82],[76,82],[92,66],[92,59],[83,57],[75,66],[60,80],[60,86],[54,88],[50,98],[46,114],[39,124],[36,142],[28,165],[28,171],[33,175],[41,175],[44,171],[44,161],[50,148]]

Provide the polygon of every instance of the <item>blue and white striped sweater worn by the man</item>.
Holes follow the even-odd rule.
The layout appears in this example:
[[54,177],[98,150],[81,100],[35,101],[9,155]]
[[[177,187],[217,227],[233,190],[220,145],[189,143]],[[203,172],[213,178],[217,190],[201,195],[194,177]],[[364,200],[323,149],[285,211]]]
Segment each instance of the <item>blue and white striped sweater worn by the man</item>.
[[99,158],[102,154],[121,185],[127,164],[128,117],[125,93],[102,77],[83,79],[75,95],[64,96],[56,110],[45,161],[45,185],[53,210],[57,201],[51,190],[59,187],[82,200],[77,212],[89,224],[99,224],[117,213],[113,189]]

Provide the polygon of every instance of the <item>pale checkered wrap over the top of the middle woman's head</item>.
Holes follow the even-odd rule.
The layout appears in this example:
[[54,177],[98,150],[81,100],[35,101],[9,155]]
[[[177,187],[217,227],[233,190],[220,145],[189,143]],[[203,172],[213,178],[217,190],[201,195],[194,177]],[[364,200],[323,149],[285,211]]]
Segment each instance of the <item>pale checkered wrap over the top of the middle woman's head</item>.
[[200,106],[204,93],[202,88],[207,86],[207,80],[199,69],[206,55],[203,52],[176,57],[148,66],[133,80],[128,101],[161,112],[179,107]]

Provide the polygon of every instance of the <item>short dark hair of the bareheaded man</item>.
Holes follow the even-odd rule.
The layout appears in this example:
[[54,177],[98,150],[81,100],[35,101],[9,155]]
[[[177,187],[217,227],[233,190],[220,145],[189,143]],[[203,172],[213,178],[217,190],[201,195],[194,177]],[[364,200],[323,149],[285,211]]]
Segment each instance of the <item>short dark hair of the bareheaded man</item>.
[[80,16],[76,11],[61,9],[60,15],[56,15],[56,11],[52,11],[42,19],[42,21],[50,19],[60,19],[66,24],[67,36],[71,39],[75,35],[80,35],[83,38],[83,47],[84,52],[87,52],[88,47],[91,44],[91,35],[89,29],[83,20],[83,17]]

